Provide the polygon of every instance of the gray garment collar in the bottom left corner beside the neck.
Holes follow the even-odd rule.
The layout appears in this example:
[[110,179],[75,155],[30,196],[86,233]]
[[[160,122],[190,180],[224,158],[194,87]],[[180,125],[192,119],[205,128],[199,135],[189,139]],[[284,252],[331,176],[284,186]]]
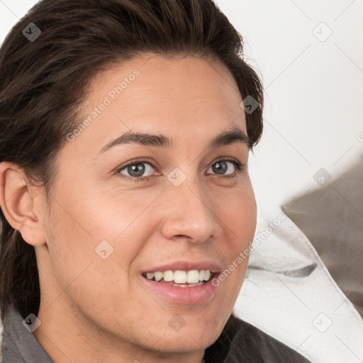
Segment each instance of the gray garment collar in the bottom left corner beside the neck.
[[1,347],[2,363],[54,363],[14,310],[6,315]]

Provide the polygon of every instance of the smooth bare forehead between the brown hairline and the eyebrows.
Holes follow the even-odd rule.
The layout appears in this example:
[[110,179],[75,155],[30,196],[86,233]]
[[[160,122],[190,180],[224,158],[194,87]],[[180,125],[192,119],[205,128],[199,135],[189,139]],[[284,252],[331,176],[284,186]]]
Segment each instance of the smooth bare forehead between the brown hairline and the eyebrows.
[[246,132],[238,86],[218,60],[145,55],[99,72],[88,94],[79,144],[101,145],[134,130],[172,135],[185,147],[231,125]]

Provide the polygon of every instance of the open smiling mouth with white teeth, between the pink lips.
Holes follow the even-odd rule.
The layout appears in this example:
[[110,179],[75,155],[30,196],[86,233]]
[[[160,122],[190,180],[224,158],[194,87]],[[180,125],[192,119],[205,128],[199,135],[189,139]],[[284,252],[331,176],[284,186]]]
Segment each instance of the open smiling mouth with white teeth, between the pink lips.
[[167,270],[164,272],[144,272],[142,275],[150,281],[158,282],[159,284],[168,284],[177,287],[194,287],[202,286],[210,281],[218,272],[211,272],[210,270]]

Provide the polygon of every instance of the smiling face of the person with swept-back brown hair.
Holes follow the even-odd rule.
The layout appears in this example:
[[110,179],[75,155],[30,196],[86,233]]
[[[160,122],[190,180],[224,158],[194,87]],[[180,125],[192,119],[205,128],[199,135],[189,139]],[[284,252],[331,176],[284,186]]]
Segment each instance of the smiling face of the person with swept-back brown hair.
[[[84,335],[145,350],[204,349],[233,310],[247,259],[218,286],[171,286],[170,272],[159,282],[152,272],[215,278],[250,246],[247,144],[209,145],[233,129],[247,135],[238,87],[218,61],[145,55],[98,74],[89,92],[89,122],[67,135],[43,213],[40,315],[66,312]],[[125,143],[125,133],[162,139]]]

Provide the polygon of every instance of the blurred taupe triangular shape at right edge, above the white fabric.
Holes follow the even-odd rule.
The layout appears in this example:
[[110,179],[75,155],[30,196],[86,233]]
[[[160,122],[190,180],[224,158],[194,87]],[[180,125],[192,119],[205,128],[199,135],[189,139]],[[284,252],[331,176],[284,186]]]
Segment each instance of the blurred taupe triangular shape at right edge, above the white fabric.
[[287,201],[282,210],[363,317],[363,154],[340,177]]

